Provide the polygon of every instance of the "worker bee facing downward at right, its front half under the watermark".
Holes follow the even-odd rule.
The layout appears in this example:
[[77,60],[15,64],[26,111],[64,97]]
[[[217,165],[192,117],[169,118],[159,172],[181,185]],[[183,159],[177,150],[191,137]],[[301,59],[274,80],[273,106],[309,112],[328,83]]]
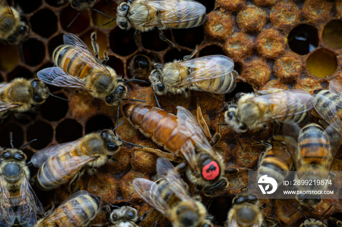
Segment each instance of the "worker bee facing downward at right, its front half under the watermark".
[[[325,130],[315,123],[307,124],[300,130],[296,123],[285,122],[283,134],[297,170],[295,180],[329,182],[329,171],[341,145],[341,122],[334,122]],[[323,191],[328,186],[329,184],[299,184],[297,187],[301,191]],[[321,195],[316,194],[297,194],[296,199],[301,205],[311,208],[321,203]]]

